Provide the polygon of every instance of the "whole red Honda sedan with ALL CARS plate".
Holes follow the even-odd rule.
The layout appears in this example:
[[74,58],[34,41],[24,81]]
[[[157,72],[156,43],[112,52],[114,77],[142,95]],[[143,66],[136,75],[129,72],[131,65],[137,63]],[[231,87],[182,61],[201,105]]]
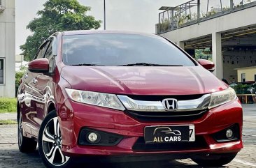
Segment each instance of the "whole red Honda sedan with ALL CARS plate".
[[243,148],[235,91],[157,35],[64,31],[29,63],[17,93],[18,145],[46,167],[77,158],[231,162]]

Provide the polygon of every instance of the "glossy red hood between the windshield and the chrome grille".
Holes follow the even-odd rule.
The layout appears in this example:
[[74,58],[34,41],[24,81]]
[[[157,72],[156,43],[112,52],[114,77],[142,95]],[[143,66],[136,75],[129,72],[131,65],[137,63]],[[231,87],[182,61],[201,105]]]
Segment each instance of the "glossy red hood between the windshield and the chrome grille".
[[72,89],[125,95],[191,95],[227,89],[201,66],[64,66],[61,75]]

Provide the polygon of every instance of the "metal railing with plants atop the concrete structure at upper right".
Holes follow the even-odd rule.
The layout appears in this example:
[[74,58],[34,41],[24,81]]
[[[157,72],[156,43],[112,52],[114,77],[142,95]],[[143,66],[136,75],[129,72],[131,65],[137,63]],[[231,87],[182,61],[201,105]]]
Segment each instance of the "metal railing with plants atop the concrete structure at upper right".
[[159,13],[156,33],[165,33],[253,6],[256,6],[256,0],[187,1]]

